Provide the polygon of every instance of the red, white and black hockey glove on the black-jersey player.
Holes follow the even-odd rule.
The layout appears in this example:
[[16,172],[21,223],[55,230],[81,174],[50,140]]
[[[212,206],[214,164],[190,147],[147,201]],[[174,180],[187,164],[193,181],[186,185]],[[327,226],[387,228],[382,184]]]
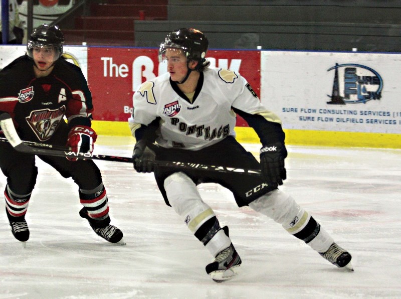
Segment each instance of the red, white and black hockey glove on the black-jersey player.
[[[89,153],[93,152],[93,143],[97,138],[96,132],[89,126],[76,125],[71,128],[68,133],[67,146],[71,147],[74,153]],[[76,158],[67,158],[70,161],[77,161]]]

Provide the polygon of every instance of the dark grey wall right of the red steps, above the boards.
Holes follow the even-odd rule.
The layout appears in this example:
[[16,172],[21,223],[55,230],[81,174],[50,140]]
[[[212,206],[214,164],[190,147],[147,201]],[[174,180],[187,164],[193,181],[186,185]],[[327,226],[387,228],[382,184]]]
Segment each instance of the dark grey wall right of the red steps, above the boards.
[[157,47],[181,27],[210,48],[399,52],[399,0],[169,0],[167,20],[135,21],[135,46]]

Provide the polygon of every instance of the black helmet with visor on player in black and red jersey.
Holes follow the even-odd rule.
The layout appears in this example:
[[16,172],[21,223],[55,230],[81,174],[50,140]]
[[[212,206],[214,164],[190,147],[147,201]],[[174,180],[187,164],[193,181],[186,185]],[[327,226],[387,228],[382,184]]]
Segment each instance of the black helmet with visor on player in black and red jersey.
[[64,34],[56,25],[43,24],[34,29],[27,43],[27,54],[32,59],[34,58],[34,47],[51,47],[56,49],[58,55],[55,60],[59,59],[63,54]]

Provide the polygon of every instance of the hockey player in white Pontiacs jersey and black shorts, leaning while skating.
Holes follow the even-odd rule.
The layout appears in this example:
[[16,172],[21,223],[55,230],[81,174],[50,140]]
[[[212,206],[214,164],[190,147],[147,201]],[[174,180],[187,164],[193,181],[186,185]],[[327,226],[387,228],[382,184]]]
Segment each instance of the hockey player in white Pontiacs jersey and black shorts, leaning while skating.
[[[200,198],[200,183],[222,185],[239,207],[250,206],[272,218],[332,264],[352,269],[351,255],[290,195],[278,190],[286,179],[287,157],[280,119],[239,73],[209,68],[207,50],[206,36],[192,28],[173,31],[161,43],[159,61],[166,60],[168,72],[143,83],[133,96],[129,126],[136,138],[134,169],[154,172],[166,204],[215,258],[206,272],[217,282],[233,277],[242,261],[228,227],[220,226]],[[260,163],[235,139],[236,114],[260,138]],[[261,169],[262,176],[160,167],[157,160]]]

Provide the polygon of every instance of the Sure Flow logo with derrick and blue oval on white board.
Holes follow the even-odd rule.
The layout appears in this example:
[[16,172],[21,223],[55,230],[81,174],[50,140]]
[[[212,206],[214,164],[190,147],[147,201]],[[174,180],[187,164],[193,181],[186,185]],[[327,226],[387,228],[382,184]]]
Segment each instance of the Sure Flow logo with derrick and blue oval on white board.
[[345,105],[380,100],[383,89],[381,76],[370,67],[361,64],[338,64],[327,71],[335,70],[331,101],[327,104]]

